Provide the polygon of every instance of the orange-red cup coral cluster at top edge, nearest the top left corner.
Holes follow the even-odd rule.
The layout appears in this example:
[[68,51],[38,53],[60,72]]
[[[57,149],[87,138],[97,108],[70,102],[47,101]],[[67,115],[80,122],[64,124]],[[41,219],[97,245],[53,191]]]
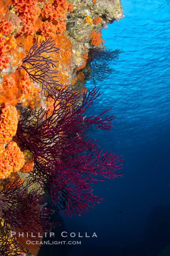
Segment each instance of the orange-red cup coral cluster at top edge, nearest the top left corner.
[[[37,32],[36,21],[40,15],[40,9],[36,0],[12,0],[12,7],[19,12],[19,18],[22,20],[22,29],[20,34],[30,34],[33,36]],[[15,11],[15,9],[14,9]]]

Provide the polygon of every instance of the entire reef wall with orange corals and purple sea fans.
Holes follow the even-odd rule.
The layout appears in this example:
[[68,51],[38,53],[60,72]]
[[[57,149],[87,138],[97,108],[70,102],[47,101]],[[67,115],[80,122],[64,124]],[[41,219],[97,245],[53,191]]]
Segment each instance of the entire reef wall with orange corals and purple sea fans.
[[27,239],[41,241],[58,225],[47,196],[59,213],[81,215],[102,201],[94,183],[122,176],[120,156],[88,137],[111,130],[114,117],[88,108],[122,52],[103,46],[101,29],[123,16],[119,1],[0,1],[2,256],[37,255]]

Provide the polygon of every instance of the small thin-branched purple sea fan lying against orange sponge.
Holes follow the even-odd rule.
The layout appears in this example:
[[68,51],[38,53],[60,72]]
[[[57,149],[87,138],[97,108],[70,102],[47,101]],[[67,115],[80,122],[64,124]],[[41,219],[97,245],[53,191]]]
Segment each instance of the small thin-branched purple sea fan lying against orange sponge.
[[38,37],[35,44],[27,52],[27,56],[22,60],[22,65],[18,69],[24,69],[31,81],[41,83],[41,92],[46,91],[52,95],[57,92],[58,87],[62,87],[58,84],[56,70],[58,61],[52,60],[51,57],[44,57],[43,54],[46,53],[59,53],[59,48],[55,47],[55,40],[50,38],[46,41],[42,41],[39,45]]

